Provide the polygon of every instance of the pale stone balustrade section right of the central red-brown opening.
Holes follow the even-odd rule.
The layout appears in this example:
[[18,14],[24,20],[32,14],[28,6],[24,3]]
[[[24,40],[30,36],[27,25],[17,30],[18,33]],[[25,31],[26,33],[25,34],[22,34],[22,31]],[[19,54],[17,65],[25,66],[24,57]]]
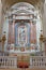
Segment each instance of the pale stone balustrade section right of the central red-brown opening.
[[30,67],[46,68],[46,56],[31,56]]

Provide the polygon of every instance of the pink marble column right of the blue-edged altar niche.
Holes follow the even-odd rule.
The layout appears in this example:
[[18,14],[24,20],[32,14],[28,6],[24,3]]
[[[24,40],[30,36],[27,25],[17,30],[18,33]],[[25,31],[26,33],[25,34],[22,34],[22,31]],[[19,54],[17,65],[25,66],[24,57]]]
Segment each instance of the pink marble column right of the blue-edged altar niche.
[[36,43],[36,25],[31,22],[31,43]]

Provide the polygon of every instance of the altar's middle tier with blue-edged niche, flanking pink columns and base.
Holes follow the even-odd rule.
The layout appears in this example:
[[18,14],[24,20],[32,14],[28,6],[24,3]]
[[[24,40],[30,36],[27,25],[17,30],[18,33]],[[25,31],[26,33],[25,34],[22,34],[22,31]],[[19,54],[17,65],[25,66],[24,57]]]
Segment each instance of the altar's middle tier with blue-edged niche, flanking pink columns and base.
[[36,25],[30,20],[15,20],[9,24],[7,50],[34,50],[36,43]]

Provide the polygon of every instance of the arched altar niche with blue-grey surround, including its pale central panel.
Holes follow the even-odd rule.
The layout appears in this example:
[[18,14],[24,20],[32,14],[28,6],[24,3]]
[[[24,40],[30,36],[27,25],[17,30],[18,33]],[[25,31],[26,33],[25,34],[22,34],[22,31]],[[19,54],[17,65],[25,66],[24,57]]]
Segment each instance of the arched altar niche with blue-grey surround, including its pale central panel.
[[28,23],[15,24],[15,46],[30,46],[30,30]]

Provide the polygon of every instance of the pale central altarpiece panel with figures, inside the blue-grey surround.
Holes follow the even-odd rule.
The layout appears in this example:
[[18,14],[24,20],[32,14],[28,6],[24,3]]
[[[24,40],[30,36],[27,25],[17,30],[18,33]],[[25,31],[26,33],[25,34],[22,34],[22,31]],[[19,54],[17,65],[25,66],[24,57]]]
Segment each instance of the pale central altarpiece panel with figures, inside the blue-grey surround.
[[20,25],[18,27],[18,44],[19,46],[26,46],[28,41],[27,27],[25,25]]

